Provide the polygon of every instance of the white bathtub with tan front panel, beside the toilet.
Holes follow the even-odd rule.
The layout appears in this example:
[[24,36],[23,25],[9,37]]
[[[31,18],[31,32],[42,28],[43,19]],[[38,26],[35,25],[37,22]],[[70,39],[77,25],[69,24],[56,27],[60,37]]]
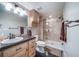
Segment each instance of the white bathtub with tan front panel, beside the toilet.
[[50,50],[49,52],[56,55],[56,56],[63,56],[63,42],[57,42],[57,41],[46,41],[46,47]]

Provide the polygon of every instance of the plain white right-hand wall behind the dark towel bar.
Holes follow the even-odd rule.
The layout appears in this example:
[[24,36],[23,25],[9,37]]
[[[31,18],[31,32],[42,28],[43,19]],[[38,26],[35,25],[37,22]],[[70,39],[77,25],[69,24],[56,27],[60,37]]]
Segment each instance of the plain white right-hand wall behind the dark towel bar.
[[[66,3],[63,17],[64,20],[78,20],[79,3]],[[79,26],[67,28],[67,42],[64,44],[64,49],[64,56],[79,57]]]

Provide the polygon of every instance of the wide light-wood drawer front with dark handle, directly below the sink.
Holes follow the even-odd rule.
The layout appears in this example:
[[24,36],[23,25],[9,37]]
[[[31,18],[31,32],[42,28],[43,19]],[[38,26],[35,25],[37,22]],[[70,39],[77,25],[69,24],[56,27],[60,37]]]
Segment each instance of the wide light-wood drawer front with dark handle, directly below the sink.
[[3,56],[13,56],[16,53],[22,51],[23,49],[26,49],[26,46],[28,45],[28,43],[23,43],[23,44],[19,44],[17,46],[11,47],[9,49],[6,49],[5,51],[3,51]]

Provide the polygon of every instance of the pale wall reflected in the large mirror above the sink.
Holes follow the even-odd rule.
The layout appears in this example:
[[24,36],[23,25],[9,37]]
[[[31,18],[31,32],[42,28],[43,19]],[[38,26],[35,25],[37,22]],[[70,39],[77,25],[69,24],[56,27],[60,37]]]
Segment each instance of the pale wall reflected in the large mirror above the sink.
[[[27,26],[27,16],[14,14],[13,11],[5,10],[5,7],[0,4],[0,34],[8,35],[9,33],[19,34],[19,26]],[[13,27],[16,29],[8,29]]]

